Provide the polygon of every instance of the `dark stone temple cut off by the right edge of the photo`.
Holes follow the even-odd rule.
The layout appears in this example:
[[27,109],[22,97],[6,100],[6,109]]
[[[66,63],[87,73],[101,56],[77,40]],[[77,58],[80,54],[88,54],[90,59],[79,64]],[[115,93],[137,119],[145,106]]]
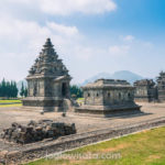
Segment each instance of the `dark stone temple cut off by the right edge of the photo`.
[[157,94],[158,94],[158,101],[165,101],[165,73],[161,72],[160,76],[157,77]]

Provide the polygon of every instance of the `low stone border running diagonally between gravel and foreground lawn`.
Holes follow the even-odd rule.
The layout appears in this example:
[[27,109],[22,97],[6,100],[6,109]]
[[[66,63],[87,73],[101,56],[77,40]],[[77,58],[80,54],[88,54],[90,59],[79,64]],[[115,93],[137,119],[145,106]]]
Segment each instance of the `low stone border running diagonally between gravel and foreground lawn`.
[[155,127],[165,125],[165,118],[150,120],[131,125],[122,125],[113,129],[97,130],[92,132],[68,135],[61,139],[61,141],[45,142],[42,145],[32,144],[31,148],[14,151],[14,152],[0,152],[0,164],[21,164],[36,158],[45,157],[46,155],[64,152],[75,147],[92,144],[99,141],[109,140],[133,132],[152,129]]

